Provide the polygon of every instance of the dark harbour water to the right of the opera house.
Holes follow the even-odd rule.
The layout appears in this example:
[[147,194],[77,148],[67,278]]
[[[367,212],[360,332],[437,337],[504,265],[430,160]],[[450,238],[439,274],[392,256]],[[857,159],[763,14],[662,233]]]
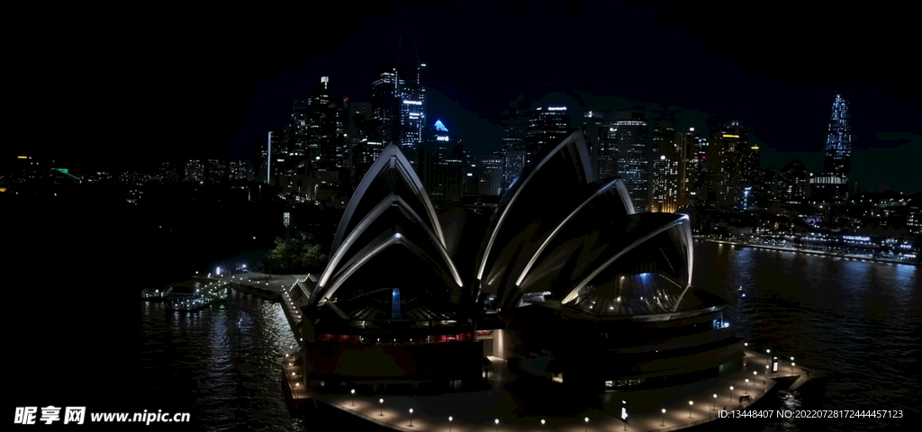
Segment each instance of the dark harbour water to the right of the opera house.
[[[695,247],[694,284],[731,299],[731,325],[751,346],[781,354],[781,368],[795,356],[795,363],[831,373],[824,388],[779,392],[766,409],[902,409],[904,417],[918,418],[917,267],[705,242]],[[745,298],[734,292],[739,286]],[[917,430],[906,419],[746,420],[764,430]]]

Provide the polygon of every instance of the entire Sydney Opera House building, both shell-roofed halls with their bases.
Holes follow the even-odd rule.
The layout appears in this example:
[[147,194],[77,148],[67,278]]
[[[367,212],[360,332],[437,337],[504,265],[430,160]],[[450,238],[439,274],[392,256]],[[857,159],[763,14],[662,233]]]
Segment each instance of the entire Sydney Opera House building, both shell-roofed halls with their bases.
[[741,366],[726,301],[691,286],[688,217],[635,213],[620,179],[595,178],[583,133],[528,167],[488,223],[461,225],[387,147],[325,270],[293,293],[306,385],[478,388],[488,356],[597,393]]

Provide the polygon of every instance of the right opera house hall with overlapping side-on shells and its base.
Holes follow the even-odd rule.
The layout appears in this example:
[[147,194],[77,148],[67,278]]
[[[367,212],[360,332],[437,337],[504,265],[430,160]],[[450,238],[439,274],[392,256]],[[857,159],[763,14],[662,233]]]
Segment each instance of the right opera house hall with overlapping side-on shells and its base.
[[688,216],[635,213],[570,135],[502,197],[476,269],[494,356],[581,391],[665,387],[739,368],[726,301],[691,286]]

